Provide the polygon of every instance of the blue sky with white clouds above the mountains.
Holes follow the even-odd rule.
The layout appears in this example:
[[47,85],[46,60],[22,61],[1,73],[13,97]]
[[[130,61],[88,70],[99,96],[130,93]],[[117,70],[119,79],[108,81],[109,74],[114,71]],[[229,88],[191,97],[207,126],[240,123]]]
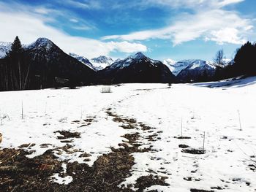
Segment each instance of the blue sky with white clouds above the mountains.
[[0,41],[46,37],[86,58],[212,61],[256,41],[255,0],[0,0]]

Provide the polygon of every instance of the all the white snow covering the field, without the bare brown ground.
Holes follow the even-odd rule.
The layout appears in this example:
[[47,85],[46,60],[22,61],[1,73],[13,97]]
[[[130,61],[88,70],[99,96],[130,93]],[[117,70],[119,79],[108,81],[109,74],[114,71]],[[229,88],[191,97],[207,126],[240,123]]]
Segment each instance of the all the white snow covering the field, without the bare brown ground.
[[[132,153],[132,176],[122,184],[157,174],[167,177],[169,186],[153,185],[146,190],[255,191],[256,172],[249,164],[256,160],[256,78],[232,83],[228,87],[220,87],[227,82],[173,84],[171,88],[167,84],[113,85],[112,93],[101,93],[102,86],[2,92],[0,147],[35,144],[24,148],[33,152],[29,155],[33,158],[66,145],[58,139],[58,131],[78,132],[80,137],[69,138],[75,153],[56,150],[55,154],[60,161],[92,166],[100,155],[110,153],[110,147],[125,142],[121,136],[138,131],[140,147],[151,145],[154,150]],[[157,139],[144,139],[150,131],[121,128],[106,113],[108,109],[156,128]],[[181,122],[183,137],[191,139],[177,138]],[[178,145],[202,150],[204,133],[206,153],[181,152]],[[80,157],[85,152],[91,156]],[[62,183],[69,182],[71,176]]]

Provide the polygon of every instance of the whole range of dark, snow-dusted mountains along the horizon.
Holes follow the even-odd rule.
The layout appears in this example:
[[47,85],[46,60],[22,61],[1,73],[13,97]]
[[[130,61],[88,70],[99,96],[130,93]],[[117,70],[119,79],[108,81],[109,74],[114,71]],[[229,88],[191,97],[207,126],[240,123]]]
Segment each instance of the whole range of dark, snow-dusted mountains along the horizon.
[[[11,43],[0,42],[0,58],[6,56],[11,45]],[[216,66],[211,61],[200,59],[178,62],[172,59],[166,59],[163,62],[155,61],[143,53],[136,53],[116,61],[103,55],[88,59],[75,53],[68,55],[46,38],[39,38],[31,45],[23,45],[23,47],[29,55],[33,77],[37,77],[34,81],[39,81],[39,84],[43,81],[45,85],[42,87],[54,86],[56,78],[69,79],[81,85],[122,82],[191,82],[199,80],[206,74],[212,77]],[[45,80],[42,80],[42,77]]]

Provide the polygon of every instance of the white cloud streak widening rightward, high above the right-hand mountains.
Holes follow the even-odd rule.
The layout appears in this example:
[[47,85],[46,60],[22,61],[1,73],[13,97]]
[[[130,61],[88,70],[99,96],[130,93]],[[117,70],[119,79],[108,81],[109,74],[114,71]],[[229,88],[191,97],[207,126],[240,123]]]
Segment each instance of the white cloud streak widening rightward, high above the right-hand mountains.
[[[192,1],[194,0],[188,2]],[[219,4],[227,5],[227,3],[235,3],[236,1],[238,0],[218,2]],[[126,41],[170,39],[173,45],[178,45],[182,42],[201,38],[218,43],[241,44],[246,39],[248,31],[253,28],[251,23],[251,20],[241,18],[237,12],[224,9],[203,9],[197,10],[192,14],[180,15],[170,26],[165,28],[138,31],[126,35],[106,36],[102,37],[102,39],[121,39]]]

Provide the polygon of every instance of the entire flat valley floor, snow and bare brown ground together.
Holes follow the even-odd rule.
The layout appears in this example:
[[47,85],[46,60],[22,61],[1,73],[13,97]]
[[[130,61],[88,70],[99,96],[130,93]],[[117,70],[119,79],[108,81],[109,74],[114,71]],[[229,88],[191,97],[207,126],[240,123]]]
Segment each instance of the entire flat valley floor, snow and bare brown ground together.
[[3,92],[0,189],[255,191],[255,82]]

